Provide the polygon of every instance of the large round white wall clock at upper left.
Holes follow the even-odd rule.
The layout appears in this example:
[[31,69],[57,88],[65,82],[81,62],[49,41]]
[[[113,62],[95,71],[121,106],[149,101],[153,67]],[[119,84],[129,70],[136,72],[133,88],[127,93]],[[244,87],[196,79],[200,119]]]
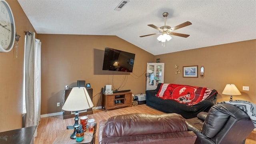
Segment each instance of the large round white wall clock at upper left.
[[12,10],[5,0],[0,0],[0,52],[9,52],[15,42],[15,24]]

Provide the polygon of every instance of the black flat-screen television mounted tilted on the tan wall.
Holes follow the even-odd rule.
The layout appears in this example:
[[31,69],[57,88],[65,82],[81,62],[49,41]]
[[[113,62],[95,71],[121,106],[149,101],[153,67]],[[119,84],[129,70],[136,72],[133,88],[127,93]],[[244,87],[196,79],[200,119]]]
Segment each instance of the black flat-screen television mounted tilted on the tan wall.
[[135,54],[106,47],[102,70],[132,72],[134,59]]

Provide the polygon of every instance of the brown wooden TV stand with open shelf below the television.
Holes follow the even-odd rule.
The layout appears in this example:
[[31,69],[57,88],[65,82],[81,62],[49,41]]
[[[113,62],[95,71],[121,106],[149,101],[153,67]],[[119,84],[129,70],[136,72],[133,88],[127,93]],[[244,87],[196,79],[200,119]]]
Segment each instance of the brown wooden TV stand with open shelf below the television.
[[102,108],[105,108],[105,112],[110,109],[125,106],[132,106],[132,92],[102,93]]

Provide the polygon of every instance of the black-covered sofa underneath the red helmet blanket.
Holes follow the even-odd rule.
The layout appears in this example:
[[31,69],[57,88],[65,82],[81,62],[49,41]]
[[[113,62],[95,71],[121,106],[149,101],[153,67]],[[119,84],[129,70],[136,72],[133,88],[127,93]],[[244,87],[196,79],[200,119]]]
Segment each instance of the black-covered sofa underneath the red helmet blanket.
[[179,103],[175,100],[164,100],[156,97],[161,83],[158,84],[156,90],[146,90],[146,105],[165,113],[176,113],[182,115],[184,118],[194,118],[199,112],[208,112],[210,108],[216,104],[217,94],[216,90],[212,90],[212,96],[206,100],[199,102],[196,105],[186,106],[186,104]]

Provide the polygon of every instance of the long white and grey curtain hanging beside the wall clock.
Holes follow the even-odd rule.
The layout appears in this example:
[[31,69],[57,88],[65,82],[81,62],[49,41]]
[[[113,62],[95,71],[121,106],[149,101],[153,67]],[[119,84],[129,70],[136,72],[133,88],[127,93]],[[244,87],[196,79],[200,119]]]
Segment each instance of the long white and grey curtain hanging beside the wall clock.
[[34,32],[26,32],[24,72],[25,126],[37,126],[41,113],[41,42],[35,39]]

